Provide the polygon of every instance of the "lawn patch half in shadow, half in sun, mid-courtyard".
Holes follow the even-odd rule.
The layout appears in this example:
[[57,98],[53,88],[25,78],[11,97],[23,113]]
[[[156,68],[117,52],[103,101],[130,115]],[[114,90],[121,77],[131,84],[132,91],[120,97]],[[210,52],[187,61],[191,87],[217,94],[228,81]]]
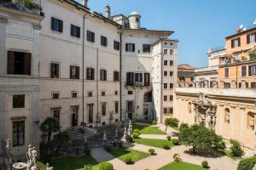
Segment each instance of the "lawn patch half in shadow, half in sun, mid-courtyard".
[[129,148],[119,148],[116,150],[111,150],[109,153],[117,158],[119,160],[124,161],[125,156],[131,156],[132,161],[136,162],[139,160],[142,160],[145,157],[150,156],[148,153],[138,151],[138,150],[131,150]]

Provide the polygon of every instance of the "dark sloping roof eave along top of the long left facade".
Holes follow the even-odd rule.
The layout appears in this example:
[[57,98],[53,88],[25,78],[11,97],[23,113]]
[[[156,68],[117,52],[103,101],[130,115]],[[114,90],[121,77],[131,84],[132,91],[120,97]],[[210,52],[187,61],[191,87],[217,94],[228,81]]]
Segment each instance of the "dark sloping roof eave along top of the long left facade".
[[107,17],[103,16],[102,14],[99,14],[99,13],[96,13],[96,12],[91,13],[90,8],[84,7],[84,5],[82,5],[81,3],[78,3],[74,0],[63,0],[63,2],[66,2],[66,3],[69,3],[69,4],[73,5],[75,8],[82,9],[82,10],[84,10],[84,12],[86,12],[88,14],[94,14],[98,19],[103,20],[105,22],[107,21],[109,24],[111,24],[113,26],[116,26],[117,28],[122,28],[121,25],[119,25],[118,23],[116,23],[113,20],[109,20]]

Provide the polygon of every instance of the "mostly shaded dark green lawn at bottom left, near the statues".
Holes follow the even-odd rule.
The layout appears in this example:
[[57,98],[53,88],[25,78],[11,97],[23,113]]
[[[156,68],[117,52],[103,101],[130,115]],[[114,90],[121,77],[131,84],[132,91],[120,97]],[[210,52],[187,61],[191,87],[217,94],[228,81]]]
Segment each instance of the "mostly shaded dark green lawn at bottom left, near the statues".
[[92,156],[62,157],[55,159],[51,166],[54,170],[83,170],[84,165],[88,164],[93,170],[98,170],[98,162]]

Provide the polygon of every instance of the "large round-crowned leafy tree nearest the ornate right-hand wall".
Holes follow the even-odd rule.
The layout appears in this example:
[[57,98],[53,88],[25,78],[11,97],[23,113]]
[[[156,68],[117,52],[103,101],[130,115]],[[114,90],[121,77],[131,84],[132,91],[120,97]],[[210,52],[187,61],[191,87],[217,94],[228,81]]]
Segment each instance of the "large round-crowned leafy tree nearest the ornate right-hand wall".
[[192,127],[183,127],[180,131],[179,141],[182,144],[192,146],[195,149],[210,148],[218,136],[203,124],[195,124]]

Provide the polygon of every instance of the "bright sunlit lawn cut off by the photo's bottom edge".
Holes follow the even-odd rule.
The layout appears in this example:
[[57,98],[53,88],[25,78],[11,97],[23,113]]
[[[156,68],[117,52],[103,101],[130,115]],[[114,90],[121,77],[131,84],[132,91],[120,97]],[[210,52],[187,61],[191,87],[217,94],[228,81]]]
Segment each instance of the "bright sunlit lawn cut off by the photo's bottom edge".
[[206,170],[205,168],[187,163],[187,162],[172,162],[165,167],[161,167],[159,170]]

